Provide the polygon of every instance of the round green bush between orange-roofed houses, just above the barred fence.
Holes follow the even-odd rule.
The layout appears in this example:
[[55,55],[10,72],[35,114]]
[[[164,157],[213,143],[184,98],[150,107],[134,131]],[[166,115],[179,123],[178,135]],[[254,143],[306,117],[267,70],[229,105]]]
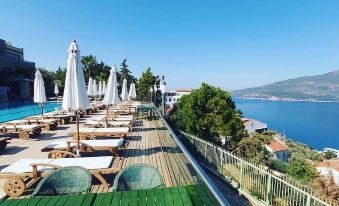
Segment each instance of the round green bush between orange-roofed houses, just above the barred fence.
[[293,158],[287,164],[286,173],[304,184],[310,184],[318,176],[315,167],[305,159]]

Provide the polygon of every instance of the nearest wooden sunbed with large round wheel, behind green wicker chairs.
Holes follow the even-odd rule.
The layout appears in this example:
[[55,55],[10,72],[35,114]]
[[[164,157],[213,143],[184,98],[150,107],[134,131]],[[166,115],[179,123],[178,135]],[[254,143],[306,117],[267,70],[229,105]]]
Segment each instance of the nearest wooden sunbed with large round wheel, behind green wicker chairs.
[[[0,171],[0,178],[7,179],[4,191],[8,196],[20,196],[51,170],[66,166],[81,166],[89,170],[100,183],[108,188],[104,174],[113,174],[121,170],[122,157],[82,157],[60,159],[20,159]],[[60,181],[62,181],[60,179]]]

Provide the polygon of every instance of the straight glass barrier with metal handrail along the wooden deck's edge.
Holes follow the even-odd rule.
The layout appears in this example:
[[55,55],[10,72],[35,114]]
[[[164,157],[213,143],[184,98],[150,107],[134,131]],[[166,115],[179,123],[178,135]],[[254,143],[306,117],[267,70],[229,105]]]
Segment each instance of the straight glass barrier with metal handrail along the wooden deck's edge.
[[[201,168],[199,163],[194,159],[191,153],[186,149],[184,144],[180,141],[180,139],[176,136],[172,128],[168,125],[164,117],[162,116],[159,110],[156,110],[159,117],[161,118],[163,124],[170,132],[172,138],[175,140],[181,151],[185,154],[191,165],[193,166],[194,170],[198,176],[198,184],[201,184],[204,187],[204,191],[211,194],[210,198],[214,198],[220,205],[230,206],[230,203],[225,199],[225,197],[221,194],[219,189],[215,186],[212,180],[208,177],[205,171]],[[209,194],[200,194],[200,195],[209,195]]]

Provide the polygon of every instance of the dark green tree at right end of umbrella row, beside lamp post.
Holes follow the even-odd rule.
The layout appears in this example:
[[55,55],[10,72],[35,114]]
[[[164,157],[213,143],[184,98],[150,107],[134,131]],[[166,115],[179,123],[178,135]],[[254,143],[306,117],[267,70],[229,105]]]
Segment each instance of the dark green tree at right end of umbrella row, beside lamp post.
[[[154,76],[151,68],[148,67],[145,72],[142,72],[141,77],[137,83],[137,98],[140,101],[149,101],[150,99],[150,88],[153,88],[154,84],[157,82],[158,77]],[[152,94],[154,95],[154,93]]]

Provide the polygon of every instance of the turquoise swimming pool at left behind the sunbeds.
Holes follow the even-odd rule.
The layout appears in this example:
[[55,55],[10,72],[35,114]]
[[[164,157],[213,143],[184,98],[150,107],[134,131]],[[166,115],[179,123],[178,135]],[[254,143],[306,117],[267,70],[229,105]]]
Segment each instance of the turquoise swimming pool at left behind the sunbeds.
[[[55,111],[61,108],[61,102],[44,103],[44,112]],[[36,114],[41,114],[41,107],[34,102],[0,103],[0,122],[20,119]]]

